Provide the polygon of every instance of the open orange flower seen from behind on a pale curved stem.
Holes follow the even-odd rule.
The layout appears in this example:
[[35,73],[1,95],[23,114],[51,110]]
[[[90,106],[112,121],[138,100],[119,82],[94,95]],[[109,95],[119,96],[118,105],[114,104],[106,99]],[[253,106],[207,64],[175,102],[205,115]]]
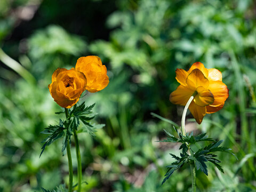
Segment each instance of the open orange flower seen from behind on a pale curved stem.
[[228,88],[222,83],[218,69],[206,69],[201,62],[195,62],[188,71],[176,69],[178,88],[170,94],[170,101],[185,106],[191,95],[195,94],[189,105],[191,114],[201,124],[205,114],[220,110],[228,98]]

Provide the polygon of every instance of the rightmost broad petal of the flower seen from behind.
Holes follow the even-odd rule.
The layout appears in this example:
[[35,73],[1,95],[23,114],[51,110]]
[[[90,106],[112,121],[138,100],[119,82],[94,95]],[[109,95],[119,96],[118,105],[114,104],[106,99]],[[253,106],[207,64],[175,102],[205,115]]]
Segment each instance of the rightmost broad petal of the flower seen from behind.
[[208,89],[212,92],[214,97],[214,102],[211,106],[219,106],[225,103],[229,95],[227,85],[221,81],[210,81]]

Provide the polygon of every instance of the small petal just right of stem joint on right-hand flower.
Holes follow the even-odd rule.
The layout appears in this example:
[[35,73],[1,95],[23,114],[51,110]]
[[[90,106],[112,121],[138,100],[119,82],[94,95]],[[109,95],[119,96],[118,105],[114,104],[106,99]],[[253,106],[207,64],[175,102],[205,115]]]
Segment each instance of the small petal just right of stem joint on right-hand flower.
[[196,91],[197,94],[194,98],[196,105],[205,107],[213,103],[214,97],[210,90],[207,90],[202,86],[199,86],[197,87]]

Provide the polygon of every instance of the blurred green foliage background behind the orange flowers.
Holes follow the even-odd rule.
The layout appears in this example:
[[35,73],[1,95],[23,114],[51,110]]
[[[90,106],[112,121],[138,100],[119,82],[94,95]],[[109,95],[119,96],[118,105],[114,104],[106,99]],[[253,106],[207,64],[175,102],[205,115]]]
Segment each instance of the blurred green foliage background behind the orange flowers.
[[99,55],[110,83],[81,99],[96,102],[96,121],[106,124],[96,138],[78,135],[83,191],[190,190],[188,167],[161,186],[179,146],[155,142],[173,130],[150,113],[180,124],[183,107],[169,101],[175,69],[196,61],[222,72],[229,98],[201,125],[188,114],[186,129],[224,139],[239,159],[220,154],[225,174],[197,171],[198,191],[256,191],[255,10],[253,0],[1,0],[0,191],[68,183],[61,140],[39,158],[40,132],[65,118],[47,89],[53,71],[86,55]]

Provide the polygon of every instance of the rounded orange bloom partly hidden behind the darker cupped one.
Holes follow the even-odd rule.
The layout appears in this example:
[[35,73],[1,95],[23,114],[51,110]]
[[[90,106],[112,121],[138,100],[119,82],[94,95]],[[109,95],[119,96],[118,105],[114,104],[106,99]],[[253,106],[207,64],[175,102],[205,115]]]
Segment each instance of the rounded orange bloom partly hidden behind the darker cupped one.
[[104,89],[108,83],[107,68],[97,56],[81,57],[76,62],[76,70],[81,71],[86,79],[86,90],[95,93]]

